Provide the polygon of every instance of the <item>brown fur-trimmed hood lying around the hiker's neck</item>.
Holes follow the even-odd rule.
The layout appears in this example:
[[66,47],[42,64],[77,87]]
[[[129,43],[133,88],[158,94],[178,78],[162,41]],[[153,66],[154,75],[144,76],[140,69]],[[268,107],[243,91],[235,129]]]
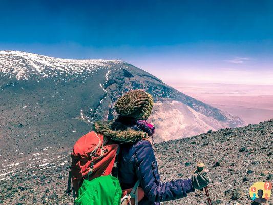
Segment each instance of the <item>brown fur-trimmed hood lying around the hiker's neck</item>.
[[121,122],[115,121],[97,121],[94,124],[93,130],[116,142],[134,143],[135,141],[149,137],[146,132],[136,131]]

